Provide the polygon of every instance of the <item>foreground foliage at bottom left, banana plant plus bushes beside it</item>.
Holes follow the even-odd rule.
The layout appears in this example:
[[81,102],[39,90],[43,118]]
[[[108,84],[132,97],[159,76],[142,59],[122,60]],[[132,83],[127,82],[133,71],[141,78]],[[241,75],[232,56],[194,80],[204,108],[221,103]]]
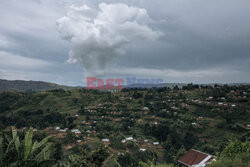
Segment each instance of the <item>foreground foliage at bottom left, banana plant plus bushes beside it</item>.
[[49,141],[51,136],[33,142],[33,128],[26,132],[23,140],[20,140],[14,128],[10,136],[7,133],[1,133],[0,136],[0,167],[95,167],[101,166],[109,156],[107,147],[100,145],[91,153],[81,149],[78,154],[57,161],[57,150],[54,143]]

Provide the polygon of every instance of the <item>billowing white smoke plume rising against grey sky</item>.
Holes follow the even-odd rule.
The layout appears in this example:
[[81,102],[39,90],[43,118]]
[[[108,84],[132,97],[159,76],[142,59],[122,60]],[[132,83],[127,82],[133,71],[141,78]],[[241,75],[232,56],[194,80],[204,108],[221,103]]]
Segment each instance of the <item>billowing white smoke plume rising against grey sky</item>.
[[161,35],[149,22],[145,9],[100,3],[97,10],[72,5],[66,16],[57,20],[57,27],[71,45],[68,62],[81,64],[87,73],[100,74],[116,56],[125,55],[124,45]]

